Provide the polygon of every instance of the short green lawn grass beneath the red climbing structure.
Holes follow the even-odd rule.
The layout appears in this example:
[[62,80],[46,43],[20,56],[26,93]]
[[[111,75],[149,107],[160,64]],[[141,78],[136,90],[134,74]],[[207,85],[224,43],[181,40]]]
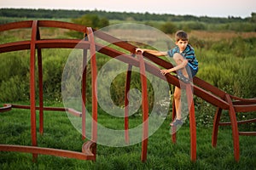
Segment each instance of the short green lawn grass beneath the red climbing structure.
[[[101,114],[101,113],[100,113]],[[115,122],[99,116],[100,122]],[[102,119],[102,120],[101,120]],[[142,117],[131,117],[139,122]],[[236,162],[230,127],[221,127],[217,148],[212,148],[212,128],[197,127],[197,160],[190,161],[189,123],[177,132],[173,144],[169,133],[170,117],[148,139],[148,158],[140,160],[141,143],[126,147],[97,145],[96,162],[32,154],[0,152],[0,169],[253,169],[256,166],[255,137],[240,137],[241,159]],[[123,123],[117,121],[116,123]],[[108,124],[108,123],[107,123]],[[121,126],[117,126],[118,128]],[[44,112],[44,135],[38,133],[38,146],[81,151],[84,141],[66,113]],[[13,109],[0,114],[0,144],[31,145],[30,111]]]

